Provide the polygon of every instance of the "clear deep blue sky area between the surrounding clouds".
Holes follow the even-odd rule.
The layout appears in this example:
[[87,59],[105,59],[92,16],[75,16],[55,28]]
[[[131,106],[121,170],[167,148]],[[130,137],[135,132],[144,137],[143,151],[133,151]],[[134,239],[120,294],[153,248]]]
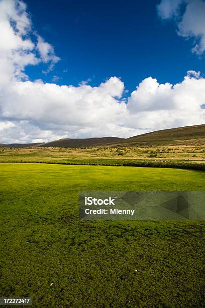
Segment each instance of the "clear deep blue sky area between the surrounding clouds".
[[[174,21],[159,18],[160,1],[39,1],[28,0],[33,26],[55,47],[61,60],[52,72],[29,66],[32,80],[75,85],[89,80],[97,86],[110,76],[121,77],[133,91],[147,76],[175,84],[187,70],[204,73],[205,57],[190,50],[193,38],[176,33]],[[90,81],[91,79],[91,81]]]

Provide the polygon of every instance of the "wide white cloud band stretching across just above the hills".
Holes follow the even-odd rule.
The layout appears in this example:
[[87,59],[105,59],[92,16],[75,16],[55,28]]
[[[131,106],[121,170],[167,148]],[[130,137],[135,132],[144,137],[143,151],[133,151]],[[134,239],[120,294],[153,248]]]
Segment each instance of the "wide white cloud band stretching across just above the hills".
[[[204,123],[205,109],[200,106],[205,102],[205,79],[199,72],[188,71],[176,85],[159,84],[149,77],[131,93],[128,104],[116,98],[123,89],[124,84],[117,77],[98,87],[12,82],[1,92],[0,140],[129,137]],[[15,126],[5,126],[8,121]]]

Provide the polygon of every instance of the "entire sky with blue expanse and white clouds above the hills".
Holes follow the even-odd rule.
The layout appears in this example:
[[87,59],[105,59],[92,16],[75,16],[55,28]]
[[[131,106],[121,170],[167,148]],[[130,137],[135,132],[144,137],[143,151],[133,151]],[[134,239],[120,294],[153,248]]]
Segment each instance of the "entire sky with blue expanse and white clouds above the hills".
[[205,123],[203,0],[0,0],[0,143]]

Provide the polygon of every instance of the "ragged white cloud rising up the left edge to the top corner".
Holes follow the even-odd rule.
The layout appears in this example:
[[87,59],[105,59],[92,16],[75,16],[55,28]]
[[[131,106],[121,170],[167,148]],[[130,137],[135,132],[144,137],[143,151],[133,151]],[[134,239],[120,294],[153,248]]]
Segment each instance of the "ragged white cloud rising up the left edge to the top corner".
[[[53,47],[38,36],[37,44],[30,38],[32,23],[25,3],[18,0],[0,1],[0,82],[28,78],[25,66],[48,63],[49,70],[59,60]],[[34,33],[35,34],[35,33]],[[39,50],[40,57],[37,55]]]

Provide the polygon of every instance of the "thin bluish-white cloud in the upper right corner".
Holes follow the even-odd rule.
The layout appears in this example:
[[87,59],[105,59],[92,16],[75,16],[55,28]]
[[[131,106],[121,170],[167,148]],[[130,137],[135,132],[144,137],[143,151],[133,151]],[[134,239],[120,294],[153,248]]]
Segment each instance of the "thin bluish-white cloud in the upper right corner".
[[157,11],[162,19],[176,21],[178,35],[194,38],[193,53],[198,55],[204,53],[205,2],[203,0],[161,0]]

